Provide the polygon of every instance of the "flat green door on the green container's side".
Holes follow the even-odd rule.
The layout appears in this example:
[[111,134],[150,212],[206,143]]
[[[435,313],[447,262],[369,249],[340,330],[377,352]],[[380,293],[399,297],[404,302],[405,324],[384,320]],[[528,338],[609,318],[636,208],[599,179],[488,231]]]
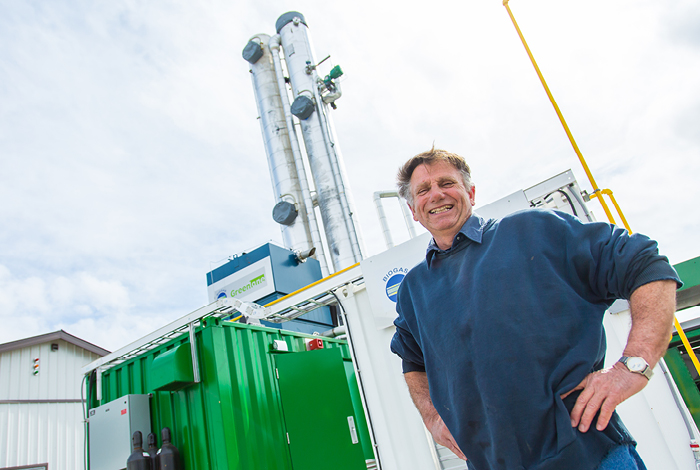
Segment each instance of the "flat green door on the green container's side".
[[275,362],[294,470],[366,469],[360,440],[369,436],[358,429],[364,415],[352,406],[340,349],[280,354]]

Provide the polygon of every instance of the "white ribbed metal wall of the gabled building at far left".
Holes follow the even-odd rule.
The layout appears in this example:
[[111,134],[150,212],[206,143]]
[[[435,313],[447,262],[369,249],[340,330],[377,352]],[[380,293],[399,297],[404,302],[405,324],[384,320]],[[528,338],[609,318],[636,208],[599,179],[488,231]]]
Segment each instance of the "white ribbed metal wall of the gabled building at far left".
[[98,357],[60,339],[0,353],[0,468],[83,468],[81,368]]

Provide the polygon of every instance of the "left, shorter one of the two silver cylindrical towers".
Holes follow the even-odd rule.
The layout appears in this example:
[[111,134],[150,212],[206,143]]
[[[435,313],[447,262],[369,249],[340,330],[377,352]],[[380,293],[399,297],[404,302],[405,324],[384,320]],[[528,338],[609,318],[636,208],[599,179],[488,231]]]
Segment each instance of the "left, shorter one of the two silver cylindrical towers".
[[[298,211],[296,219],[289,225],[280,225],[282,238],[287,247],[305,251],[312,247],[311,229],[308,222],[309,208],[305,204],[297,176],[298,171],[292,152],[290,131],[285,120],[269,40],[270,36],[267,34],[254,36],[244,49],[244,58],[250,64],[253,90],[255,91],[275,199],[278,202],[287,200],[294,204]],[[251,43],[260,45],[261,56],[256,51],[256,55],[246,57],[246,50]],[[251,50],[255,49],[253,46],[250,47]],[[310,210],[313,211],[313,207]]]

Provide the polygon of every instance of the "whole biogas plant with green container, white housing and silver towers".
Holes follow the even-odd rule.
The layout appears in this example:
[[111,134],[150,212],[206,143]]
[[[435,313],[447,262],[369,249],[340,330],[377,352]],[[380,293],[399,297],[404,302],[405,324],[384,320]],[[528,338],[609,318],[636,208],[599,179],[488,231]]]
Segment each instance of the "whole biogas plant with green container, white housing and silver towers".
[[[301,13],[282,15],[276,30],[253,36],[243,57],[285,247],[227,260],[207,274],[209,305],[86,366],[89,413],[146,397],[150,427],[172,430],[187,470],[464,469],[424,428],[389,350],[398,287],[430,236],[416,236],[404,214],[411,238],[393,247],[381,198],[396,195],[378,192],[388,249],[363,259],[329,114],[342,71],[318,75]],[[476,212],[537,208],[594,220],[570,170]],[[605,328],[614,360],[629,331],[625,302],[606,314]],[[666,372],[663,361],[657,367]],[[650,470],[690,470],[697,428],[669,377],[655,374],[618,411]],[[91,439],[91,461],[101,452],[104,440],[93,447]]]

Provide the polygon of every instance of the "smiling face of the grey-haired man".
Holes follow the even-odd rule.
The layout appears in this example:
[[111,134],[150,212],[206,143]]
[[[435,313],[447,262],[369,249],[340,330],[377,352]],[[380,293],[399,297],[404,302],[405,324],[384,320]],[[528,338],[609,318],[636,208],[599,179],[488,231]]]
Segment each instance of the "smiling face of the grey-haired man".
[[441,249],[447,249],[472,214],[474,193],[474,186],[467,191],[462,175],[449,163],[419,165],[411,175],[413,220],[428,229]]

